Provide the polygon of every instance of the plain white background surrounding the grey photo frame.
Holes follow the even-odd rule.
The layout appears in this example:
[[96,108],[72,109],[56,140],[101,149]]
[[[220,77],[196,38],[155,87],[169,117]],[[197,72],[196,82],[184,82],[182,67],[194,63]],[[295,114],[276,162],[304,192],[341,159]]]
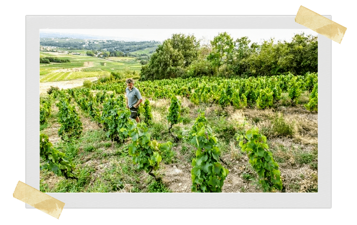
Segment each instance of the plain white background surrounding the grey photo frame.
[[[37,3],[38,2],[38,3]],[[300,5],[347,27],[332,41],[332,209],[64,209],[57,220],[12,197],[25,182],[25,15],[296,15]],[[356,4],[347,1],[27,1],[2,3],[1,221],[30,223],[330,224],[350,222],[355,204]],[[352,70],[353,69],[353,70]],[[355,116],[353,116],[355,115]],[[320,150],[319,154],[323,154]],[[353,211],[353,212],[352,212]],[[353,221],[353,220],[351,220]]]

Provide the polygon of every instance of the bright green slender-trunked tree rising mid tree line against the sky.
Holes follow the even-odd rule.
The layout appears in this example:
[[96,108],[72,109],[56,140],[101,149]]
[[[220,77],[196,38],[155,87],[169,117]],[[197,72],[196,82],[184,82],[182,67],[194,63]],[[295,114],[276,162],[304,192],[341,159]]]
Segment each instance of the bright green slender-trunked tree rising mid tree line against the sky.
[[216,74],[220,72],[220,67],[226,60],[227,55],[232,53],[234,48],[233,38],[227,32],[219,33],[218,36],[211,41],[212,52],[208,55],[207,59],[216,68]]

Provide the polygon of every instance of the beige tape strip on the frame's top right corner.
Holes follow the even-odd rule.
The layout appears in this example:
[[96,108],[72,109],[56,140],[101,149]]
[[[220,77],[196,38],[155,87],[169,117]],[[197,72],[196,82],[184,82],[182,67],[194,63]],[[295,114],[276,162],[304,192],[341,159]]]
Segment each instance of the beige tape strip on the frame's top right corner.
[[347,27],[333,22],[302,5],[297,11],[295,22],[316,31],[339,44],[341,44],[342,38],[347,30]]

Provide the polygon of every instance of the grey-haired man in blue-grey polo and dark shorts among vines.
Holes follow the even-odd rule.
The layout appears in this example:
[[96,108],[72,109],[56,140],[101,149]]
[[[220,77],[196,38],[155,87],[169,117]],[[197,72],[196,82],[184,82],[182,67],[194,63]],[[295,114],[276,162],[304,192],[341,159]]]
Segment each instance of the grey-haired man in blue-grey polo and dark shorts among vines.
[[140,91],[134,87],[134,80],[126,80],[127,88],[125,89],[126,108],[130,109],[130,118],[140,122],[140,117],[137,114],[138,107],[142,102]]

